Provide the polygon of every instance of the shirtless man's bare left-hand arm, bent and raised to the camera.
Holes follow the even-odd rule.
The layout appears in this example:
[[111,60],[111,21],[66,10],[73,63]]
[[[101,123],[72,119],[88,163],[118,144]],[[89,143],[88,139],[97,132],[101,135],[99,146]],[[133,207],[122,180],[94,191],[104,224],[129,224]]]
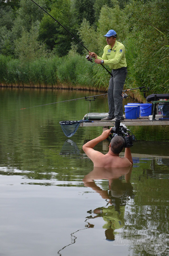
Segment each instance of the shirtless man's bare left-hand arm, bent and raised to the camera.
[[111,134],[110,133],[111,130],[112,130],[112,127],[109,130],[102,132],[102,134],[99,137],[91,141],[88,141],[86,144],[83,145],[82,147],[83,151],[92,160],[93,163],[103,155],[101,152],[94,150],[93,147],[96,146],[99,142],[105,140]]

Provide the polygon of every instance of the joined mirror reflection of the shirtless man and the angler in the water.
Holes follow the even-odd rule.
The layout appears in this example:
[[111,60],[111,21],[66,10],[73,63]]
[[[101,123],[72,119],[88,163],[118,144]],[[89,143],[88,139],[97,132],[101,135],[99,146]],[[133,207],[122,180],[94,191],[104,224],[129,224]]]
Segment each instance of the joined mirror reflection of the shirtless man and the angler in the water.
[[[127,196],[132,194],[132,186],[130,183],[132,166],[121,167],[121,168],[104,168],[94,167],[92,172],[84,176],[84,186],[92,188],[94,191],[99,193],[103,199],[109,199],[110,206],[99,207],[93,212],[96,214],[95,217],[102,217],[105,221],[103,228],[105,228],[105,236],[107,241],[115,240],[116,229],[124,226],[124,212],[126,205]],[[119,178],[125,175],[126,183],[122,182]],[[106,190],[102,190],[99,186],[94,183],[94,180],[107,179],[109,182],[109,193]]]

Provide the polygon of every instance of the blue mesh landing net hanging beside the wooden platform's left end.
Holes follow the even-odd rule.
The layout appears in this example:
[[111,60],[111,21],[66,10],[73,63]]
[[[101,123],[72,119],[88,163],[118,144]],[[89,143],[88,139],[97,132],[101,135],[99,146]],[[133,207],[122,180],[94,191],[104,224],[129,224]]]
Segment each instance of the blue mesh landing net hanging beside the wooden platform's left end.
[[77,131],[80,123],[83,123],[83,122],[91,122],[91,121],[89,121],[89,120],[61,121],[61,122],[59,122],[59,124],[61,125],[61,128],[62,128],[64,134],[67,137],[71,137]]

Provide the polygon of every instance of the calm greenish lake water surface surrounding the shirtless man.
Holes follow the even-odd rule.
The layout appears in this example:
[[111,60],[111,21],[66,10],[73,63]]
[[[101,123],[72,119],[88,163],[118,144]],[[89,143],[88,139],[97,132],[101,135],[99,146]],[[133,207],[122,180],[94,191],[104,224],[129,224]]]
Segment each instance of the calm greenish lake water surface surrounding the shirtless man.
[[[0,94],[1,256],[168,255],[168,127],[129,127],[137,137],[130,172],[93,170],[82,145],[102,127],[67,138],[59,124],[82,119],[89,102],[29,107],[99,93]],[[108,112],[107,98],[91,101],[91,112]]]

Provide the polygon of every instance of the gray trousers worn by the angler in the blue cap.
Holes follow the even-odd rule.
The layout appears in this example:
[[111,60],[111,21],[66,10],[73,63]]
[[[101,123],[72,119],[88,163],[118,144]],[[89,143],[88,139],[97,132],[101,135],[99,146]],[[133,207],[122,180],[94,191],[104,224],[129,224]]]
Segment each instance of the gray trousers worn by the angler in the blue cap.
[[108,118],[120,120],[123,117],[122,91],[127,76],[127,67],[112,69],[108,87]]

